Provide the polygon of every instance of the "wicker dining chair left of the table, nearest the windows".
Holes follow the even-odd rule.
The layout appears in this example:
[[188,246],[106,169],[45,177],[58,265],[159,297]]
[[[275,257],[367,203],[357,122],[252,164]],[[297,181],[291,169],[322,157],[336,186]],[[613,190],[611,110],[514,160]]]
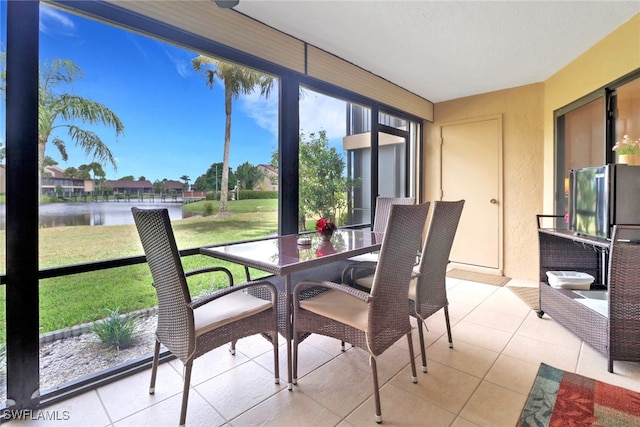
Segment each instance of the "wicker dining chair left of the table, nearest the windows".
[[[279,382],[277,293],[268,281],[247,282],[233,286],[233,276],[223,267],[209,267],[191,272],[183,270],[180,254],[166,209],[131,209],[140,241],[151,270],[158,297],[158,325],[151,368],[149,394],[155,392],[160,345],[164,345],[184,364],[184,386],[180,425],[186,420],[187,402],[194,359],[250,335],[270,333],[273,337],[275,382]],[[229,287],[192,301],[187,277],[195,274],[222,272]],[[264,288],[271,300],[249,295],[245,290]]]

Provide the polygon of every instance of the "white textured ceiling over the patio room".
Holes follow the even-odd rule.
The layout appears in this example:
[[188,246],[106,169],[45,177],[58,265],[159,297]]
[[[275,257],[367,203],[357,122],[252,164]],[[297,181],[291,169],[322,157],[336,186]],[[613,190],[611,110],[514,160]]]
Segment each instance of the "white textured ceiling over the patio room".
[[440,102],[546,80],[640,1],[240,0],[234,10]]

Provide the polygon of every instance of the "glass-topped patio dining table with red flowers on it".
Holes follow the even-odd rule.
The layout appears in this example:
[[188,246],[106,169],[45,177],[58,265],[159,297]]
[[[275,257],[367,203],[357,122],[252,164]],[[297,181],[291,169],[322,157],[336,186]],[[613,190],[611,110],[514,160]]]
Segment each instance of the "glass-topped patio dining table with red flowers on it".
[[[304,237],[310,238],[310,244],[298,243],[298,239]],[[382,244],[382,237],[382,233],[375,233],[370,229],[338,229],[333,233],[330,241],[323,241],[321,236],[315,233],[291,234],[203,247],[200,249],[200,253],[284,278],[284,286],[279,288],[279,292],[284,296],[284,298],[279,298],[279,301],[282,301],[279,305],[284,305],[284,307],[279,306],[278,310],[280,312],[284,310],[285,323],[282,327],[279,325],[279,332],[287,340],[287,380],[288,388],[291,390],[293,388],[291,379],[292,274],[377,251]]]

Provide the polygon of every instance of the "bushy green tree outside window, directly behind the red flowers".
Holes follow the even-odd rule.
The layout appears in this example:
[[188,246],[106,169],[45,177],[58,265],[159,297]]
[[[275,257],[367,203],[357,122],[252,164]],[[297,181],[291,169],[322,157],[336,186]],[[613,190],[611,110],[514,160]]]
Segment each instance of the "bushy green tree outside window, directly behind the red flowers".
[[300,133],[299,226],[305,229],[307,215],[336,219],[347,205],[351,183],[343,171],[345,162],[335,147],[329,147],[326,131],[316,136]]

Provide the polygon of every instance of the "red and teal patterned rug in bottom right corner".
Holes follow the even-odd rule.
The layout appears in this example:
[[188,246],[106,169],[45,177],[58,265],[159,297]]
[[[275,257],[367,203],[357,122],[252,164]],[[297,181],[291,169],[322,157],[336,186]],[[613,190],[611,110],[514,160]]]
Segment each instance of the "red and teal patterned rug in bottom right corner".
[[640,425],[640,393],[544,363],[517,427]]

